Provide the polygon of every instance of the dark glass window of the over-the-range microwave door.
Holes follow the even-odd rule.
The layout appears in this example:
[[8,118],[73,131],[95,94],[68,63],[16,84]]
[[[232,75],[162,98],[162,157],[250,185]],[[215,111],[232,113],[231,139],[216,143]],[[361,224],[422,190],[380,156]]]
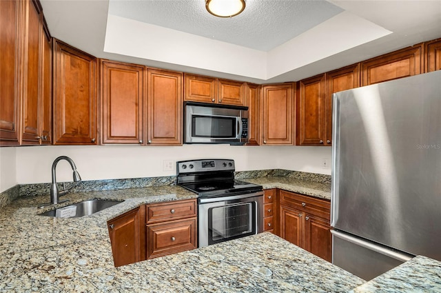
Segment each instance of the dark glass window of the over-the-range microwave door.
[[192,116],[192,137],[236,137],[236,117]]

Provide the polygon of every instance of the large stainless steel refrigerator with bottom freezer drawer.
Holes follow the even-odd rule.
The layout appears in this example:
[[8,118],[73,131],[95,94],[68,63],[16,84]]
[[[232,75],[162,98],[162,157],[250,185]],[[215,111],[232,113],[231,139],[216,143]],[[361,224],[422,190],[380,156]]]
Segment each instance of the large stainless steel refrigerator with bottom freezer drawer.
[[333,99],[332,262],[370,280],[441,261],[441,70]]

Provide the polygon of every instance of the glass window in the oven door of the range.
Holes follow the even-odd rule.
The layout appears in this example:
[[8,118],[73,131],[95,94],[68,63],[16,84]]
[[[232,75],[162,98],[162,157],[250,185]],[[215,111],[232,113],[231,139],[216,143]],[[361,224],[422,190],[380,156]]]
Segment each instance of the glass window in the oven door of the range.
[[256,234],[256,202],[223,205],[208,210],[209,244]]

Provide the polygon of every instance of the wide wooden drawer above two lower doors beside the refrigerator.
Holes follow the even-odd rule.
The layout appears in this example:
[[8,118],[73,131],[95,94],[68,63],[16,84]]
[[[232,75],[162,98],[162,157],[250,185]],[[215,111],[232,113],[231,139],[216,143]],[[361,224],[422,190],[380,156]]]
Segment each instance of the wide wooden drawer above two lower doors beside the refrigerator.
[[322,216],[325,219],[329,219],[331,212],[331,203],[329,201],[314,199],[294,192],[286,192],[285,190],[280,190],[280,205],[286,205],[290,208]]

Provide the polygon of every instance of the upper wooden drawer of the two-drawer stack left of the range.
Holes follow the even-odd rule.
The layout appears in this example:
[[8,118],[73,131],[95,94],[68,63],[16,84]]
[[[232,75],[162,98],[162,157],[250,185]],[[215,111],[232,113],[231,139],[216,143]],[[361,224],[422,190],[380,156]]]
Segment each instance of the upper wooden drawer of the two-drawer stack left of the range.
[[196,216],[196,200],[147,205],[147,224]]

